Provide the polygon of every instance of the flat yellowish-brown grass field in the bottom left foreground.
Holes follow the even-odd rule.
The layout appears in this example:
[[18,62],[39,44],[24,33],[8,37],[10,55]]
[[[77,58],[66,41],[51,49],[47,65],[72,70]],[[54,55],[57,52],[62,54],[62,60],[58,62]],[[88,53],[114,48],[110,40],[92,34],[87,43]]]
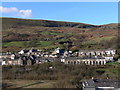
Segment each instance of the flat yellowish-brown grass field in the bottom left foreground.
[[54,88],[55,81],[52,80],[3,80],[8,84],[7,88]]

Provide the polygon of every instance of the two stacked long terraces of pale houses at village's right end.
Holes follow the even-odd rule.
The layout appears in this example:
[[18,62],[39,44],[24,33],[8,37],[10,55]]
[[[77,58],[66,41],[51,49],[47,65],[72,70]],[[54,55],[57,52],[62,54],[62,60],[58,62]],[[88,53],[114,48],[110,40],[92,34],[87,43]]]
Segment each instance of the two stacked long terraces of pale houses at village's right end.
[[78,57],[62,58],[65,64],[86,64],[86,65],[106,65],[108,62],[115,62],[116,50],[80,50]]

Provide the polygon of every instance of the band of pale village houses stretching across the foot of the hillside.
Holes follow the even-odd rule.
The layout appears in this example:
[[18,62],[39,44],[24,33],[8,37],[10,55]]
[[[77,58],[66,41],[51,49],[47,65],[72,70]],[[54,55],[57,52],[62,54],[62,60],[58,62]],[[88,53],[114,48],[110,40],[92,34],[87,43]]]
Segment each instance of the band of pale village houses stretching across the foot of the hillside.
[[35,65],[54,61],[60,61],[63,64],[106,65],[106,63],[115,62],[115,55],[115,49],[79,50],[73,53],[60,48],[50,52],[31,48],[17,53],[2,53],[0,59],[1,65]]

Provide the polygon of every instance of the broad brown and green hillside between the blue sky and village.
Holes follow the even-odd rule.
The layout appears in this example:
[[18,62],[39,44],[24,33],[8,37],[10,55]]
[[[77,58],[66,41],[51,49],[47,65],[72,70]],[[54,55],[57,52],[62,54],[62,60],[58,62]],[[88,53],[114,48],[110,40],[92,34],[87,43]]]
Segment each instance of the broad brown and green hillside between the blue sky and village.
[[2,19],[3,52],[23,48],[77,49],[115,48],[118,24],[90,25],[84,23]]

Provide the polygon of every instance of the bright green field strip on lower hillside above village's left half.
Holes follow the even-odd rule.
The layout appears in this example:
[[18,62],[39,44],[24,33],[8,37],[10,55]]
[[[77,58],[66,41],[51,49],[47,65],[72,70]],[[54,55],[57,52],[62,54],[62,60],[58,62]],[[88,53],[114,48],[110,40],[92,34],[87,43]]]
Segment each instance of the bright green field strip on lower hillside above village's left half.
[[36,48],[46,48],[46,49],[57,48],[57,47],[63,48],[63,46],[59,44],[59,42],[62,41],[63,42],[68,41],[68,39],[60,39],[55,41],[12,41],[12,42],[4,42],[2,43],[2,46],[22,47],[22,48],[36,47]]

